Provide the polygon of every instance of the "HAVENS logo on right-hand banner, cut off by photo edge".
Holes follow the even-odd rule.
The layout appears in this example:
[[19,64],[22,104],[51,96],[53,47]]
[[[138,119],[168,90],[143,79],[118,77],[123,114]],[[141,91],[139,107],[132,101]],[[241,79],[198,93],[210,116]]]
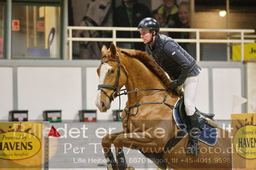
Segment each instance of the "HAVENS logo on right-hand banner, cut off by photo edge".
[[234,135],[234,148],[238,155],[243,158],[256,158],[256,126],[251,122],[245,125],[237,120],[241,127],[236,127],[237,132]]

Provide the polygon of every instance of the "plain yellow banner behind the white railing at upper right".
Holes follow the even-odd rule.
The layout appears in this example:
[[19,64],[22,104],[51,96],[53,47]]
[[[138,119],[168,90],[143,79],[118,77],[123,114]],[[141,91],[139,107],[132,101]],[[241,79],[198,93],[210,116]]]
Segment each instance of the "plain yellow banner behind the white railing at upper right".
[[[232,59],[241,60],[241,45],[232,46]],[[256,43],[245,43],[244,44],[244,60],[255,60],[256,59]]]

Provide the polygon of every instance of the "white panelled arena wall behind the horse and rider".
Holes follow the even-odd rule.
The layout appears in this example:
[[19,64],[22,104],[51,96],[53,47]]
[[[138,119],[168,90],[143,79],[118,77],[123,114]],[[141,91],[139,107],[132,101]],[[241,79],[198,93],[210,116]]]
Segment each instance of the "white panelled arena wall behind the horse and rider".
[[[8,112],[19,109],[29,111],[29,120],[42,120],[44,110],[60,109],[62,120],[78,121],[79,110],[96,109],[98,65],[99,61],[3,61],[0,119],[8,120]],[[201,61],[200,65],[203,69],[196,98],[198,109],[214,112],[216,119],[230,120],[231,113],[246,112],[246,105],[233,107],[233,95],[246,98],[248,93],[251,98],[248,108],[253,111],[255,89],[248,87],[255,82],[250,80],[255,74],[246,77],[243,63]],[[121,98],[121,109],[126,100]],[[98,120],[112,120],[112,110],[118,107],[117,98],[107,113],[98,112]]]

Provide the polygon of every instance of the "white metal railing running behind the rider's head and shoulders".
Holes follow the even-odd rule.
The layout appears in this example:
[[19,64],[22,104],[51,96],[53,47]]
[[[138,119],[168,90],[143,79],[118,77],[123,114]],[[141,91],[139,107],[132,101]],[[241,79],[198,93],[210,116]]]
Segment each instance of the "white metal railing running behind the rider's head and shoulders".
[[[142,42],[141,38],[117,38],[116,31],[136,31],[137,27],[80,27],[69,26],[68,38],[69,42],[69,59],[73,58],[73,42],[113,42],[115,45],[117,42]],[[75,30],[100,30],[100,31],[112,31],[112,38],[78,38],[73,37],[73,31]],[[200,43],[240,43],[241,44],[241,61],[244,60],[244,43],[253,43],[254,40],[248,40],[245,38],[246,34],[255,33],[254,29],[192,29],[192,28],[160,28],[162,32],[190,32],[196,33],[195,39],[175,39],[176,42],[188,42],[196,43],[196,61],[200,61]],[[200,33],[205,32],[218,32],[218,33],[238,33],[240,36],[237,39],[200,39]],[[229,59],[229,50],[227,52]]]

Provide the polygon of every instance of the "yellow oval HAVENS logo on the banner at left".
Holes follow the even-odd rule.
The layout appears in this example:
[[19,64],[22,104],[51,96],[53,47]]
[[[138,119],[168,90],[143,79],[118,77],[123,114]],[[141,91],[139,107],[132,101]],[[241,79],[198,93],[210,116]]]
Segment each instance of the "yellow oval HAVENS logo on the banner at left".
[[0,134],[0,158],[19,160],[37,154],[41,143],[27,132],[4,132]]

